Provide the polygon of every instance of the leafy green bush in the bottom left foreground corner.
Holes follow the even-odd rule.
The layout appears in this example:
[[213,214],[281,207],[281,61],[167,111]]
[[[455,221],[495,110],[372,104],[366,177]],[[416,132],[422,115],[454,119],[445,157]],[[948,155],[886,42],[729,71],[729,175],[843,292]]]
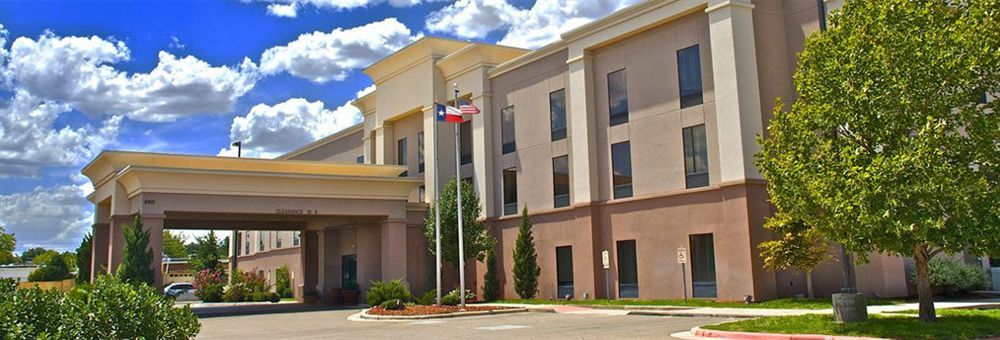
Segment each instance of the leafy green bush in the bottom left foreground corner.
[[102,276],[70,293],[0,284],[5,339],[192,339],[200,325],[187,306],[174,308],[147,285]]

